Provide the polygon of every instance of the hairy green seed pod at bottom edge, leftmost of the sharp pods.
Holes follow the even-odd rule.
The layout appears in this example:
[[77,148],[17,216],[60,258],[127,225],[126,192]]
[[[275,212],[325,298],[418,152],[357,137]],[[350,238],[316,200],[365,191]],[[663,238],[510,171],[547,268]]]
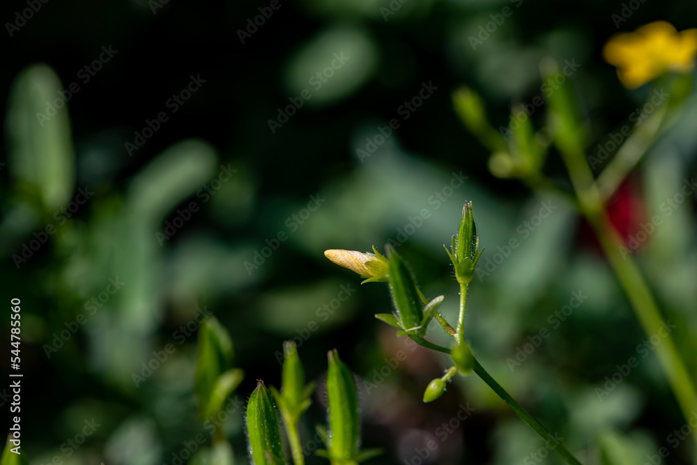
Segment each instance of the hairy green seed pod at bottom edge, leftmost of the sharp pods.
[[259,381],[247,403],[247,440],[254,465],[283,463],[278,416],[263,381]]

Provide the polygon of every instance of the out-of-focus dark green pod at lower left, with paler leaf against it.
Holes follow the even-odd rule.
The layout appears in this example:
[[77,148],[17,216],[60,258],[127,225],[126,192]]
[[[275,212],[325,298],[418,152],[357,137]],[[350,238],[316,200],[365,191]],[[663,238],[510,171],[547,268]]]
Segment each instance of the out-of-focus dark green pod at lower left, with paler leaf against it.
[[[208,317],[201,324],[199,330],[196,379],[194,381],[194,391],[199,402],[199,416],[201,420],[207,418],[206,412],[208,411],[213,391],[217,387],[220,376],[229,369],[232,356],[232,340],[227,330],[222,327],[215,317]],[[226,380],[223,381],[225,382]],[[229,381],[233,380],[227,379],[228,383]]]

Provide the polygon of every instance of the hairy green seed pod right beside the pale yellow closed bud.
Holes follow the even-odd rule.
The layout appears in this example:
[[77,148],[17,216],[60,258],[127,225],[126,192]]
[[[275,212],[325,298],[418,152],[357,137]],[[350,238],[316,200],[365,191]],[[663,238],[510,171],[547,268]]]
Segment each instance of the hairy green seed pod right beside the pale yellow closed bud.
[[392,247],[386,247],[390,262],[390,290],[404,330],[419,328],[424,314],[411,271]]

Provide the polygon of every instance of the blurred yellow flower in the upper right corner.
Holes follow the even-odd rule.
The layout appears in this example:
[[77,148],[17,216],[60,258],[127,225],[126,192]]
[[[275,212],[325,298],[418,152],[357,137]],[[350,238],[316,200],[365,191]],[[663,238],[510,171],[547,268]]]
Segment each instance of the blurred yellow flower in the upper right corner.
[[695,66],[697,29],[678,32],[673,24],[652,22],[614,36],[603,49],[627,89],[636,89],[666,71],[686,72]]

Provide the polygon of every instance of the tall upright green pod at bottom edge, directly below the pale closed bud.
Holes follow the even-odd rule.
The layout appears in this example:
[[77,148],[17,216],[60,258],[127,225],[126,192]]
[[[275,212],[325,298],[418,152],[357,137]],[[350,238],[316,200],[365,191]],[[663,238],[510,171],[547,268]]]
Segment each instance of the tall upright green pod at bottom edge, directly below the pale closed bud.
[[335,460],[355,460],[360,443],[358,390],[351,371],[339,360],[336,349],[328,353],[327,400],[329,404],[329,452]]

